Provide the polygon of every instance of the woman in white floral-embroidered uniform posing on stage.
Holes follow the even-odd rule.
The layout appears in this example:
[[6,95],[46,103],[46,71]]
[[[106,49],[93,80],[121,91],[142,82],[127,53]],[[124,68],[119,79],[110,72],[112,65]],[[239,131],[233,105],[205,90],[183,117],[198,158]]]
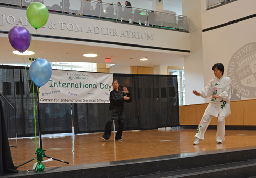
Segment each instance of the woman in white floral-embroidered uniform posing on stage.
[[224,66],[222,63],[214,64],[212,70],[214,71],[215,78],[210,80],[207,86],[200,92],[193,91],[197,96],[203,98],[210,97],[209,105],[194,136],[196,138],[193,143],[194,145],[204,139],[204,133],[214,116],[218,117],[216,141],[217,143],[222,143],[225,140],[225,117],[231,114],[229,103],[231,98],[231,80],[229,77],[223,76]]

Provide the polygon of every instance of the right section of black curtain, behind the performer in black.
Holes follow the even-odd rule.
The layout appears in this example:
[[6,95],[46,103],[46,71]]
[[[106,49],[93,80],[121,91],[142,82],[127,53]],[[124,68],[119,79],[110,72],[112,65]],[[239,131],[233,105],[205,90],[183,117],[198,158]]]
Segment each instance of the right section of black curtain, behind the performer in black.
[[[179,126],[176,75],[113,74],[120,90],[127,87],[133,101],[124,103],[124,130],[152,130]],[[75,133],[103,132],[109,104],[73,104]],[[117,122],[115,122],[117,127]]]

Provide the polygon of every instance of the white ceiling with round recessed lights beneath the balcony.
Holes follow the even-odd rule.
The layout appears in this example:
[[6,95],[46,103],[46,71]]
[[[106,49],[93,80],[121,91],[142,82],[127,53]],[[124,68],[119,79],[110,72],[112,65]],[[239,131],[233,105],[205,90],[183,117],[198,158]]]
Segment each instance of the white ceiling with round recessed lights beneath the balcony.
[[[7,35],[6,35],[7,36]],[[15,55],[14,49],[10,45],[7,37],[0,37],[0,54],[2,64],[24,64],[23,57]],[[54,40],[57,41],[57,40]],[[81,42],[80,44],[72,44],[72,41],[59,40],[61,42],[42,41],[39,38],[32,43],[28,50],[35,51],[35,58],[45,58],[49,62],[93,62],[105,63],[105,57],[111,57],[111,64],[126,66],[157,66],[172,65],[183,66],[183,57],[186,56],[182,52],[170,52],[166,50],[142,49],[116,45],[102,45],[99,43]],[[31,49],[32,48],[32,49]],[[88,58],[83,54],[95,53],[97,57]],[[30,63],[29,57],[24,56],[25,63]],[[33,55],[34,57],[34,55]],[[147,61],[140,61],[140,58],[147,57]],[[133,58],[133,59],[131,59]]]

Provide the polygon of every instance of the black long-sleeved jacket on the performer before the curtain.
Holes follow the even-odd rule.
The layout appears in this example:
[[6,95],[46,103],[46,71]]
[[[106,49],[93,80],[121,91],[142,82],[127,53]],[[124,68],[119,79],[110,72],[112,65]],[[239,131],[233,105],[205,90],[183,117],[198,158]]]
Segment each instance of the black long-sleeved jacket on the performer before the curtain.
[[[129,100],[124,100],[124,96],[130,97]],[[112,119],[124,119],[124,102],[132,102],[131,93],[124,93],[123,91],[112,90],[110,92],[110,107],[109,107],[109,118]]]

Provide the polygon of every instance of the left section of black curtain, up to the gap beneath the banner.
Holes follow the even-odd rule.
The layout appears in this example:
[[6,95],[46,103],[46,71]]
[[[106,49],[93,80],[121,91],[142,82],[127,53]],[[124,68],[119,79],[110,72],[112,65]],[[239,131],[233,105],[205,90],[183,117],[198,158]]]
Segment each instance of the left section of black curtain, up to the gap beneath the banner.
[[[38,136],[37,87],[30,88],[29,68],[0,65],[0,73],[0,93],[14,107],[1,97],[8,138],[35,136],[34,102]],[[71,104],[40,104],[40,118],[42,134],[72,133]]]

